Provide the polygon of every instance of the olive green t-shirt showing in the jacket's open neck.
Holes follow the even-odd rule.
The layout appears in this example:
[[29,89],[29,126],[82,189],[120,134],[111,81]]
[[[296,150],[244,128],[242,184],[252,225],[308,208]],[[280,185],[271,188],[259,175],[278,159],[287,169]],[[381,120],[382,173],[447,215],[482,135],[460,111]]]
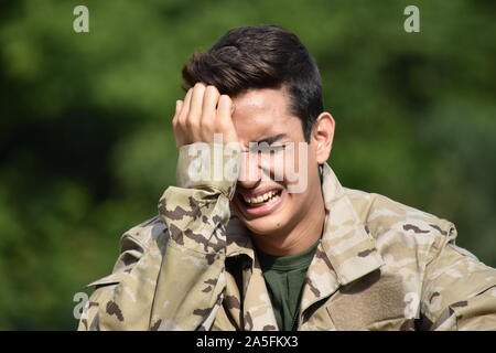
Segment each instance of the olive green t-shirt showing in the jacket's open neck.
[[303,282],[319,242],[303,253],[289,256],[257,250],[279,330],[295,329]]

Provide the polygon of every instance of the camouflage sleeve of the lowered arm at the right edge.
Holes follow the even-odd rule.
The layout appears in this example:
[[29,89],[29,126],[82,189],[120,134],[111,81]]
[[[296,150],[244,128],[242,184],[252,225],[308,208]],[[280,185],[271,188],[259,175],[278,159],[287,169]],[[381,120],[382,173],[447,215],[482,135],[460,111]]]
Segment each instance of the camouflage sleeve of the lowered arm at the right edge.
[[496,330],[496,269],[455,245],[454,226],[427,266],[422,324],[436,331]]

